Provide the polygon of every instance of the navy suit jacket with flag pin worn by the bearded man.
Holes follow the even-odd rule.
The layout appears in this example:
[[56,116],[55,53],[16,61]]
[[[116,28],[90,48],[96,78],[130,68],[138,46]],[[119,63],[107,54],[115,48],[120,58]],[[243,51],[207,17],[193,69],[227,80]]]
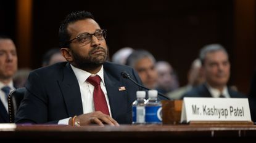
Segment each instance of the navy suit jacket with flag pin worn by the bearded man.
[[[137,85],[121,76],[126,71],[141,84],[138,74],[128,66],[104,63],[104,80],[112,117],[120,124],[131,123],[131,104]],[[125,87],[125,91],[119,91]],[[31,72],[25,85],[25,97],[15,115],[16,123],[57,123],[83,114],[78,80],[69,63],[57,63]]]

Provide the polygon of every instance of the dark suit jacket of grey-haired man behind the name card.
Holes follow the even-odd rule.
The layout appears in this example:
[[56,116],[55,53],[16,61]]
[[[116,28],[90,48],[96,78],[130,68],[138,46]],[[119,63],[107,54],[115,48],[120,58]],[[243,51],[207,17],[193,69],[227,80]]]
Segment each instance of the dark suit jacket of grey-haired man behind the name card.
[[[231,98],[246,98],[246,96],[242,95],[241,93],[231,90],[228,88],[228,94]],[[207,88],[206,83],[199,85],[198,87],[192,88],[192,90],[188,91],[183,95],[184,97],[202,97],[202,98],[212,98],[210,91]]]

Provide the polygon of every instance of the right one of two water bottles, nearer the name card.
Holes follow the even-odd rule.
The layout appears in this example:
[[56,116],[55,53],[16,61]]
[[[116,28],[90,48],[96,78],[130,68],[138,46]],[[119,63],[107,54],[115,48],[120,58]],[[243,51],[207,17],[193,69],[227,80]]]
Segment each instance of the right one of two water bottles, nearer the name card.
[[145,103],[147,124],[162,124],[162,103],[157,99],[157,90],[149,90],[149,99]]

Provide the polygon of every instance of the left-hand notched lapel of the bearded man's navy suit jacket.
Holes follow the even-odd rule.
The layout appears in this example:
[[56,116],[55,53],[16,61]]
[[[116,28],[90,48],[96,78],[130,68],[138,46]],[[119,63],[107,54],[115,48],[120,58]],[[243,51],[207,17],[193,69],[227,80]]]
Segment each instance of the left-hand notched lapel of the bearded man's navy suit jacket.
[[64,79],[59,80],[60,90],[64,97],[69,117],[83,114],[81,92],[76,76],[69,63],[64,68]]

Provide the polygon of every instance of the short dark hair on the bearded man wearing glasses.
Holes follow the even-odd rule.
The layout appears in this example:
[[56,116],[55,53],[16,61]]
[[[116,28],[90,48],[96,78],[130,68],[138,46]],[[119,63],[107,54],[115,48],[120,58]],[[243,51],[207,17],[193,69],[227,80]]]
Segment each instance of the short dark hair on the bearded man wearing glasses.
[[67,26],[70,23],[74,23],[78,20],[85,20],[91,18],[94,20],[93,15],[90,12],[86,11],[77,11],[77,12],[72,12],[67,15],[64,21],[60,24],[59,28],[59,45],[60,47],[69,47],[69,39],[70,39],[70,34],[67,31]]

